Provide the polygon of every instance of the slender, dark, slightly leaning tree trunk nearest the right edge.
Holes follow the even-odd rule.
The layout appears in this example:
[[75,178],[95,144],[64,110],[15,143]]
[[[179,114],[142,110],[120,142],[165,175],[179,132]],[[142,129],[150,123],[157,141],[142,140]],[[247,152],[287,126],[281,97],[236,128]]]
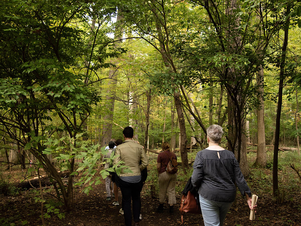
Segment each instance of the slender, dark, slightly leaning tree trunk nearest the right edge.
[[288,41],[288,30],[290,25],[290,4],[286,8],[287,20],[284,25],[284,40],[281,49],[281,63],[280,63],[280,74],[279,74],[279,92],[278,92],[278,105],[277,105],[277,115],[276,115],[276,129],[275,129],[275,144],[274,144],[274,156],[273,156],[273,195],[279,198],[278,190],[278,148],[279,148],[279,134],[280,134],[280,117],[281,117],[281,107],[282,107],[282,91],[283,82],[285,78],[284,67],[285,58],[287,52],[287,41]]

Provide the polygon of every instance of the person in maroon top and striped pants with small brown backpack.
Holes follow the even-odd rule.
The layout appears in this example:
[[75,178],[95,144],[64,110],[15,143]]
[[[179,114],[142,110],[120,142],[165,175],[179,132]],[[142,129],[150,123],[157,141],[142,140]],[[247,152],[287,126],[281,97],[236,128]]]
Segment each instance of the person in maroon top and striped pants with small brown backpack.
[[166,171],[166,166],[170,159],[177,159],[174,153],[170,152],[169,143],[162,143],[162,150],[157,158],[157,171],[159,173],[159,206],[157,211],[163,213],[163,203],[166,200],[166,192],[168,193],[169,213],[173,213],[173,205],[175,204],[175,182],[177,174],[170,174]]

